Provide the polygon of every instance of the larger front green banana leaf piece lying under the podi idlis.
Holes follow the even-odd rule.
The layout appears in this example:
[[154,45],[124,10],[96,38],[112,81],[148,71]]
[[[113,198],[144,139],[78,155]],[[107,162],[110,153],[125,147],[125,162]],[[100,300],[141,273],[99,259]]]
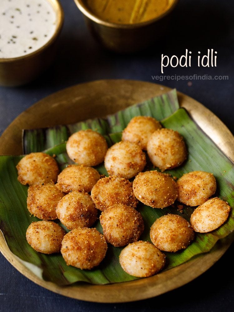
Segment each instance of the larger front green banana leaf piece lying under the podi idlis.
[[[122,125],[124,121],[122,120]],[[207,137],[198,125],[190,118],[186,110],[179,109],[170,117],[162,120],[164,127],[180,132],[188,147],[188,159],[179,168],[168,171],[174,177],[181,177],[183,173],[193,170],[204,170],[212,172],[217,180],[217,196],[229,202],[234,207],[234,170],[229,160],[221,150]],[[121,139],[121,133],[105,136],[108,144],[111,145]],[[66,144],[62,143],[46,151],[48,154],[56,154],[56,160],[61,169],[67,163],[71,163],[66,154]],[[107,255],[101,264],[90,271],[80,270],[75,267],[66,266],[61,254],[44,255],[34,251],[28,245],[25,232],[32,221],[38,220],[30,216],[27,211],[27,187],[17,181],[16,164],[22,156],[1,156],[0,157],[0,228],[7,241],[10,250],[18,256],[24,264],[33,272],[35,267],[40,268],[41,278],[52,281],[58,285],[69,285],[74,282],[88,282],[92,284],[107,284],[124,282],[136,279],[126,274],[119,265],[119,254],[122,248],[108,246]],[[103,164],[96,167],[100,173],[107,174]],[[149,162],[145,170],[154,170]],[[157,168],[156,168],[157,170]],[[149,229],[156,218],[174,213],[189,220],[194,208],[184,207],[183,212],[178,211],[178,203],[164,208],[154,209],[139,203],[137,209],[141,212],[145,230],[141,237],[149,240]],[[95,227],[102,232],[100,223]],[[233,208],[230,216],[221,227],[207,234],[196,233],[195,240],[183,251],[176,253],[166,252],[167,263],[164,270],[178,266],[191,258],[210,251],[218,240],[229,235],[234,230]],[[33,264],[35,267],[33,267]]]

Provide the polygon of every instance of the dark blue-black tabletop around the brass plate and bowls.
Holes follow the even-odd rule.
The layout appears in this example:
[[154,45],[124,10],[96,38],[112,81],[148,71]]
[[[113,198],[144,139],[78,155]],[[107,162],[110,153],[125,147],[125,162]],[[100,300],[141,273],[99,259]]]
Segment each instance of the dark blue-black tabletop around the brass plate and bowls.
[[[45,96],[80,82],[134,79],[161,83],[195,98],[212,110],[234,133],[233,13],[234,2],[180,0],[164,39],[145,51],[119,55],[106,51],[89,34],[72,0],[61,0],[65,23],[54,64],[31,84],[0,87],[0,135],[22,111]],[[160,75],[161,54],[193,52],[191,68],[170,68],[165,75],[221,75],[228,80],[152,80]],[[217,67],[197,67],[197,51],[217,51]],[[21,275],[0,254],[0,311],[233,311],[233,244],[196,280],[167,294],[134,303],[96,304],[57,295]]]

